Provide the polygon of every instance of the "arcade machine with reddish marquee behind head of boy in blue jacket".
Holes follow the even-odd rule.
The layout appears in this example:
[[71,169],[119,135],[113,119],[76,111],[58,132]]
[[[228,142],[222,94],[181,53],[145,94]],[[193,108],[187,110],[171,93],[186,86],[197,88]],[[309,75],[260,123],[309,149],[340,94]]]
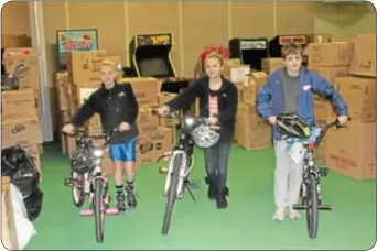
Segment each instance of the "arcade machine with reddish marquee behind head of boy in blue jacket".
[[308,54],[306,46],[309,44],[309,39],[306,35],[277,35],[272,40],[268,42],[270,57],[281,57],[281,47],[284,44],[294,43],[301,44],[304,50],[304,58],[302,64],[306,65],[308,62]]

